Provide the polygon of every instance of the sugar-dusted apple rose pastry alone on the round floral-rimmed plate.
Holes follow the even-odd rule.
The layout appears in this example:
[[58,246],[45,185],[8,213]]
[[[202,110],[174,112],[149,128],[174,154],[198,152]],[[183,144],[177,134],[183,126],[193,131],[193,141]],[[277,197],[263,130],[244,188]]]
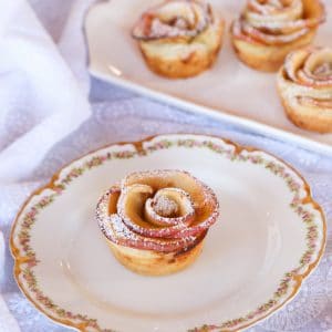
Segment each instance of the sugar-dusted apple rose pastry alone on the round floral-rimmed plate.
[[141,172],[100,198],[96,220],[123,266],[160,276],[194,262],[218,208],[212,190],[186,172]]

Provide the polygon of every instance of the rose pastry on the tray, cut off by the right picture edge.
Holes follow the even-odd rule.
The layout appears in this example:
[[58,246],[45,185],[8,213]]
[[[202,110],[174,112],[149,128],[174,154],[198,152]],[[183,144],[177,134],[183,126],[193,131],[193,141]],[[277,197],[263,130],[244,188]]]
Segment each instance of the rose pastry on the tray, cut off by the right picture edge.
[[332,133],[332,49],[290,53],[277,83],[287,115],[295,125]]

